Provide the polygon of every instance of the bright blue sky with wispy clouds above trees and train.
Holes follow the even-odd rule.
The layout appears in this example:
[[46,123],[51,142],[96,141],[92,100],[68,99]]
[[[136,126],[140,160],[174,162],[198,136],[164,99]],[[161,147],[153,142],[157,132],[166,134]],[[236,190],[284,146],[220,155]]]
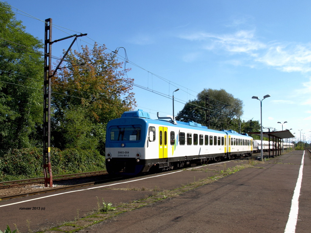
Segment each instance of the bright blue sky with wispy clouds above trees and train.
[[[26,31],[44,39],[44,21],[52,18],[53,40],[87,33],[109,51],[124,47],[134,78],[137,108],[156,119],[175,114],[204,88],[225,89],[244,103],[241,120],[264,127],[292,129],[311,140],[311,2],[302,1],[142,1],[8,0]],[[23,12],[22,12],[23,11]],[[24,16],[29,14],[30,18]],[[39,21],[39,20],[42,21]],[[71,40],[53,44],[61,56]],[[120,49],[119,61],[125,57]],[[151,91],[147,91],[145,89]],[[153,90],[153,91],[152,91]],[[157,94],[157,93],[160,93]],[[302,134],[303,135],[303,134]]]

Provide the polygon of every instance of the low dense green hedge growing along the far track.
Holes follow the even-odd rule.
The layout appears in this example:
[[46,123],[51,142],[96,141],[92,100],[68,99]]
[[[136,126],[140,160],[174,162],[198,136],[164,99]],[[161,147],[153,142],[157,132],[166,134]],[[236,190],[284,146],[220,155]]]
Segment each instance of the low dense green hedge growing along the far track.
[[[97,150],[51,148],[54,176],[105,169],[105,158]],[[13,149],[0,157],[0,181],[42,177],[43,152],[39,148]]]

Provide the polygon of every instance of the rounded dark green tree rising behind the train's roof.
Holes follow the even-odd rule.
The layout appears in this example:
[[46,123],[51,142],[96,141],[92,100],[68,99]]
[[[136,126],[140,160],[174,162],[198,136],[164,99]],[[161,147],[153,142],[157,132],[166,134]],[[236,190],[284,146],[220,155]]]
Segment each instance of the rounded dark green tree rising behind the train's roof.
[[[211,129],[233,129],[234,119],[239,119],[243,114],[243,102],[238,98],[234,98],[232,94],[227,93],[224,89],[203,89],[196,99],[185,104],[185,107],[177,114],[176,119],[195,121],[207,125],[207,109],[210,111],[207,119],[210,120]],[[234,128],[236,127],[234,126]]]

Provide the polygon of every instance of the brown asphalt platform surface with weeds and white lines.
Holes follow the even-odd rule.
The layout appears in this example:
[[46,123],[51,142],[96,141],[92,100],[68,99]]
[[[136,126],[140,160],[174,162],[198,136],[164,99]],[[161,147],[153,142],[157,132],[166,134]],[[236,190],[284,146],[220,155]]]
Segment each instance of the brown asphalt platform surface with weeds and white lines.
[[[0,230],[7,224],[15,229],[15,224],[21,233],[309,233],[311,159],[305,152],[302,161],[303,153],[285,153],[220,179],[213,178],[219,171],[248,162],[230,161],[1,201]],[[299,205],[292,204],[293,195],[299,197]],[[103,201],[118,208],[92,215]]]

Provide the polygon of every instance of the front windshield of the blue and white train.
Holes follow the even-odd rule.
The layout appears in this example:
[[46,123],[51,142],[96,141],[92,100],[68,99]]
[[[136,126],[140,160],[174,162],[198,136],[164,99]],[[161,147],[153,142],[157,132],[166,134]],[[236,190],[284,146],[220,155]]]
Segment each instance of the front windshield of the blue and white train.
[[140,126],[114,127],[110,130],[111,141],[139,141],[142,135]]

